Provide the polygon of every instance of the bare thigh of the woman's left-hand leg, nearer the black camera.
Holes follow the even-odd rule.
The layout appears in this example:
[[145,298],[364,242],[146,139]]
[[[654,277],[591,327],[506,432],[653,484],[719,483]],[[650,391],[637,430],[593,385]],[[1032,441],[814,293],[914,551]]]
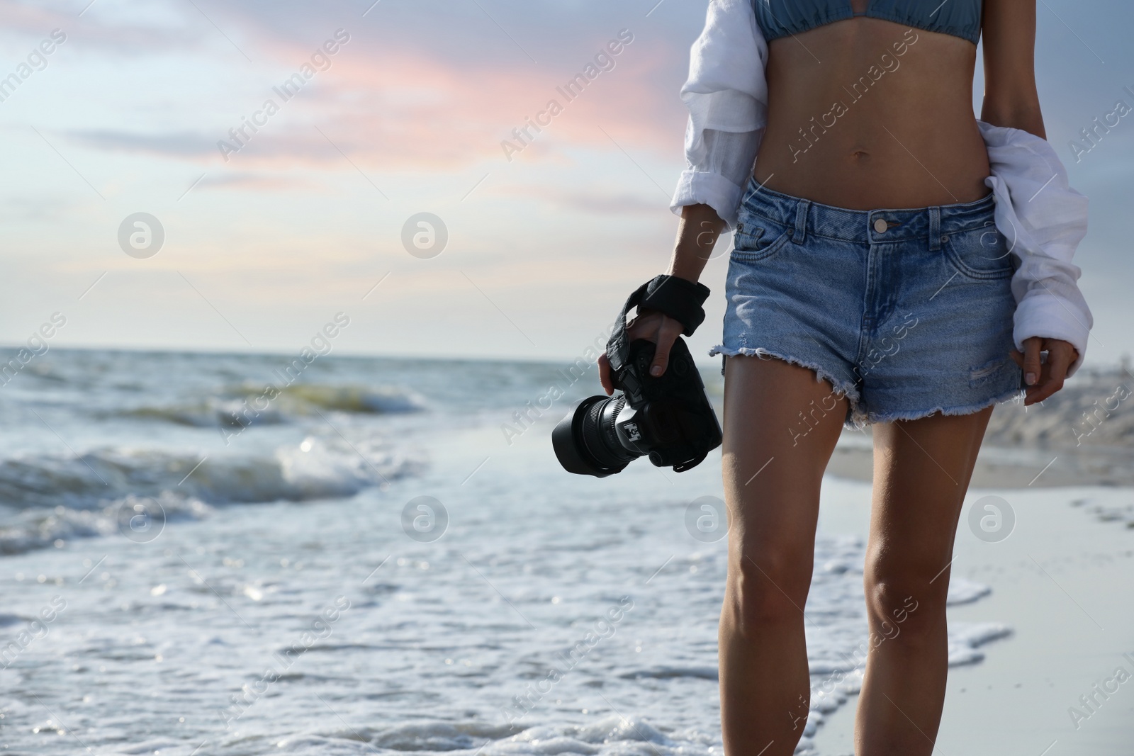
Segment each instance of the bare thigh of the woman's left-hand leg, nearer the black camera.
[[[815,373],[770,357],[728,357],[722,464],[734,560],[758,558],[811,576],[819,486],[847,400]],[[801,554],[801,550],[804,553]]]

